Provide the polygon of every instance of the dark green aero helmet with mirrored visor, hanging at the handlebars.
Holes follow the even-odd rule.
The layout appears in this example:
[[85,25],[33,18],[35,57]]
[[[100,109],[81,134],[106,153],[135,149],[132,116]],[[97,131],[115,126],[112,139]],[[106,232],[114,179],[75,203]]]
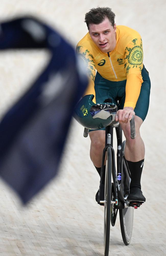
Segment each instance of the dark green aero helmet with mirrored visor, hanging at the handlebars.
[[88,129],[101,129],[115,119],[117,106],[113,103],[94,103],[93,94],[84,96],[75,106],[74,118]]

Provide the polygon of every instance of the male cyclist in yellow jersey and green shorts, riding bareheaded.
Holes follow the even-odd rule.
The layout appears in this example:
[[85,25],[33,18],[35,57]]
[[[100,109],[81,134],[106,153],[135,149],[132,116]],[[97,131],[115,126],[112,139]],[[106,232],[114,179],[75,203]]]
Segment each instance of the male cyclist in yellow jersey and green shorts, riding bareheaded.
[[[143,65],[141,36],[129,27],[116,26],[114,18],[115,14],[109,7],[90,9],[85,15],[89,32],[77,44],[77,52],[86,63],[90,77],[85,95],[93,94],[93,101],[97,103],[111,98],[117,105],[117,99],[120,99],[115,120],[120,123],[126,137],[125,157],[131,172],[128,201],[145,202],[140,184],[145,146],[139,129],[149,108],[149,73]],[[133,115],[136,129],[134,140],[130,137],[129,124]],[[104,130],[90,130],[89,133],[90,158],[99,175],[105,146]],[[104,179],[101,195],[104,199]]]

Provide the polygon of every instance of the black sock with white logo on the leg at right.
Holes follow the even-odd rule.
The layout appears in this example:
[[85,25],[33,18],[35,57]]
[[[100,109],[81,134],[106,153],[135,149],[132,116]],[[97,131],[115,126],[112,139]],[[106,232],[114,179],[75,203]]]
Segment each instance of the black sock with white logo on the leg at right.
[[141,189],[141,174],[144,166],[144,159],[138,162],[131,162],[127,160],[127,164],[131,173],[130,188],[138,187]]

